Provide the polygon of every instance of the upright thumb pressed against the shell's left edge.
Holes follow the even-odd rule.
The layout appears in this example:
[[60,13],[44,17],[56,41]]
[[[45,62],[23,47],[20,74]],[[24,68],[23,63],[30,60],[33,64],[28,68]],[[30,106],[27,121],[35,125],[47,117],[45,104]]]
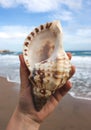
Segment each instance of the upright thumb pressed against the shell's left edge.
[[27,69],[23,55],[19,55],[20,59],[20,80],[21,80],[21,87],[26,88],[29,85],[29,70]]

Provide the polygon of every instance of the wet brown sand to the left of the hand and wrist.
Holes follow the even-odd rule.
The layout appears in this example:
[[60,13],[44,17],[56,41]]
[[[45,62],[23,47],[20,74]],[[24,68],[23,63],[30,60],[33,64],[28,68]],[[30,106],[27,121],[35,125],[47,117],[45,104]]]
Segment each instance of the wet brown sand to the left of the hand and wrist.
[[19,88],[19,85],[0,77],[0,130],[5,130],[18,102],[19,91],[14,87]]

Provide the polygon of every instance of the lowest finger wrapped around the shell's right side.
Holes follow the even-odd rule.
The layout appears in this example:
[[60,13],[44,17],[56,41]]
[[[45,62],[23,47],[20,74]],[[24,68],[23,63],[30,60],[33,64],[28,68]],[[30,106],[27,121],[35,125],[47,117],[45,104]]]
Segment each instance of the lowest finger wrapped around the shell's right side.
[[55,92],[54,94],[55,99],[59,102],[68,93],[71,87],[72,87],[71,82],[67,81],[63,87],[61,87]]

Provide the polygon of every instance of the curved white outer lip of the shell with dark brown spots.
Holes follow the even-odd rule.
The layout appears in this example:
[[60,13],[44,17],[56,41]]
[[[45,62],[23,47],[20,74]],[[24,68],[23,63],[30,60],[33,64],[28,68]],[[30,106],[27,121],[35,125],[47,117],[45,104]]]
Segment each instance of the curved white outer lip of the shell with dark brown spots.
[[[53,31],[53,27],[55,24],[59,24],[59,21],[55,20],[53,22],[48,22],[46,24],[40,25],[39,27],[36,27],[25,39],[24,46],[23,46],[23,57],[26,66],[28,67],[29,71],[33,71],[34,67],[31,66],[31,63],[29,61],[28,55],[29,55],[29,46],[31,45],[32,40],[38,35],[40,32],[50,30]],[[52,32],[53,33],[53,32]],[[47,60],[47,59],[46,59]],[[45,59],[43,60],[45,61]],[[40,63],[40,62],[38,62]]]

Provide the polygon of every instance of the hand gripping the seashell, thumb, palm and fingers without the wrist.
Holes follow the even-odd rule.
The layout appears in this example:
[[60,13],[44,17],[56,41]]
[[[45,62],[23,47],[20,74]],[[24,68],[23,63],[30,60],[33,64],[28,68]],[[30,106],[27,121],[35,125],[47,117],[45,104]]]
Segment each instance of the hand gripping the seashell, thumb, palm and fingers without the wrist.
[[[67,53],[69,59],[71,59],[71,54]],[[32,99],[32,90],[31,85],[28,80],[29,70],[27,69],[23,55],[19,56],[20,59],[20,80],[21,80],[21,89],[20,89],[20,100],[19,100],[19,110],[21,113],[28,115],[32,120],[40,123],[42,122],[58,105],[58,103],[62,100],[62,97],[66,95],[66,93],[70,90],[72,84],[67,81],[67,83],[57,90],[54,95],[50,97],[48,102],[44,105],[44,107],[37,112]],[[75,67],[71,68],[71,76],[75,72]]]

